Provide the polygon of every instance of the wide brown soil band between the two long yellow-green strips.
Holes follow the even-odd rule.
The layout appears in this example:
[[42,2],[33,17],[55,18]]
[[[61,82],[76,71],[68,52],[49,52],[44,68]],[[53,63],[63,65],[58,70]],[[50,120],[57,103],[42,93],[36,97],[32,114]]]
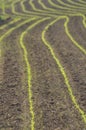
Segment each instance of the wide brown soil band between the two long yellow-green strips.
[[41,40],[46,24],[44,22],[35,27],[25,37],[32,70],[35,129],[81,130],[83,123],[80,115],[71,102],[58,66]]

